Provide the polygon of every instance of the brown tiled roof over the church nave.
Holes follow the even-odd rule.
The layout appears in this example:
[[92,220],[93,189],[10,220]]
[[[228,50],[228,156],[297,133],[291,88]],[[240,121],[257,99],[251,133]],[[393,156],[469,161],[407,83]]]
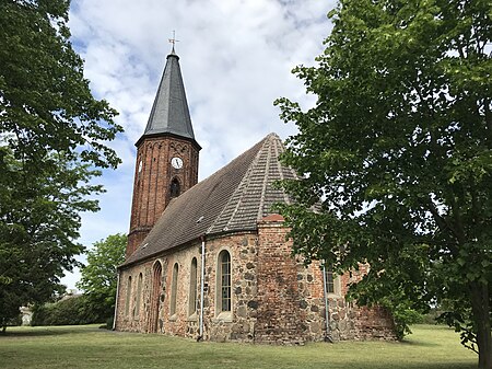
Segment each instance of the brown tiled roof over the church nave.
[[282,189],[273,187],[278,180],[295,177],[279,162],[283,150],[281,139],[270,134],[174,199],[124,265],[203,234],[256,230],[258,220],[272,214],[274,203],[289,200]]

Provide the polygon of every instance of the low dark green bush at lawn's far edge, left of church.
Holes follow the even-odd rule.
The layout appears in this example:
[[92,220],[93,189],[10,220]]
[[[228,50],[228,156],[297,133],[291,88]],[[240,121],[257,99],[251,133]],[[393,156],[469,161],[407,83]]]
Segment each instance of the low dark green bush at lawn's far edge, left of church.
[[77,325],[97,322],[101,320],[87,309],[86,298],[82,295],[35,307],[31,325]]

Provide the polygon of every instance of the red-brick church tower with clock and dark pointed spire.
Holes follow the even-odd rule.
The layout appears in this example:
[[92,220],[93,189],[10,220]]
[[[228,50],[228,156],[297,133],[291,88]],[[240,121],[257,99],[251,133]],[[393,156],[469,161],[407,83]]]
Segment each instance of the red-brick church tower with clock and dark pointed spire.
[[140,246],[169,201],[198,182],[201,147],[195,140],[174,45],[145,130],[136,146],[127,258]]

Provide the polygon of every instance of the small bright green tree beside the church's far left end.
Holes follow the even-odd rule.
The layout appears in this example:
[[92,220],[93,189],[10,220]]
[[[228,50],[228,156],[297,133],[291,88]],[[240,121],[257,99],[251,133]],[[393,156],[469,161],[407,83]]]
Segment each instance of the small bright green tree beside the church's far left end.
[[77,287],[84,291],[92,315],[99,321],[109,319],[115,312],[118,265],[125,262],[127,235],[112,234],[95,242],[87,252],[87,265],[82,267]]

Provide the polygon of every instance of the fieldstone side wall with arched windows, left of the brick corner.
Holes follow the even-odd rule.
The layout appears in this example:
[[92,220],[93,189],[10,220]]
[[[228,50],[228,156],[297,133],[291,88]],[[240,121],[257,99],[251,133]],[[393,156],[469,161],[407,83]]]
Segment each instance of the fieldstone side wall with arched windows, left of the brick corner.
[[[231,254],[232,267],[232,311],[222,313],[215,305],[218,257],[222,250]],[[129,332],[150,332],[149,322],[152,293],[153,265],[162,264],[162,296],[157,307],[157,333],[197,338],[199,335],[199,309],[189,309],[191,261],[197,258],[197,299],[200,301],[201,242],[174,250],[159,258],[120,270],[118,312],[116,330]],[[173,269],[178,264],[176,290],[176,312],[171,315],[171,293]],[[258,303],[257,296],[257,235],[237,233],[207,240],[206,274],[203,293],[203,338],[210,341],[253,342]],[[138,278],[143,275],[140,309],[136,309],[138,299]],[[128,291],[128,278],[132,278],[132,288]],[[130,292],[130,313],[126,314],[127,295]],[[199,303],[198,303],[199,308]],[[136,312],[139,312],[138,314]]]

